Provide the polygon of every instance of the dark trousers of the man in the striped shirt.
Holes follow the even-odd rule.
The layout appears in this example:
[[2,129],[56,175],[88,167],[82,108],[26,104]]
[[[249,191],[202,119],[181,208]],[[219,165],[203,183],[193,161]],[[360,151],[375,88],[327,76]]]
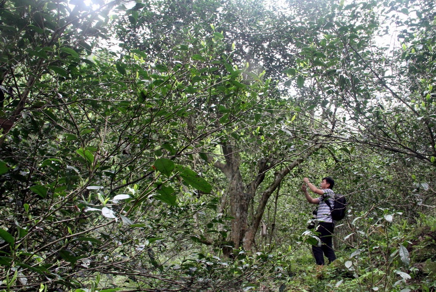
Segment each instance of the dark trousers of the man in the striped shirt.
[[321,246],[312,246],[313,257],[318,265],[324,265],[324,255],[328,259],[328,263],[336,260],[335,251],[333,250],[332,237],[335,226],[333,223],[320,222],[315,230],[319,232]]

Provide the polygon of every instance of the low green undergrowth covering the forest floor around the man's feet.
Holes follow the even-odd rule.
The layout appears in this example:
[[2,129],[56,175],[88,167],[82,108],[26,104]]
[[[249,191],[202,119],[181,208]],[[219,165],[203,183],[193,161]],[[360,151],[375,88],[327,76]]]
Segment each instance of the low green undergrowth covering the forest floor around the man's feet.
[[[311,254],[310,243],[316,233],[305,231],[286,252],[265,246],[265,252],[234,251],[233,259],[207,250],[187,252],[189,256],[173,261],[164,272],[173,278],[177,275],[179,284],[184,283],[186,290],[180,291],[434,292],[436,219],[421,214],[410,224],[398,217],[397,224],[386,218],[380,224],[371,218],[348,224],[336,237],[353,226],[361,232],[339,240],[337,260],[323,267],[314,263]],[[155,291],[175,291],[158,279],[150,286],[139,285],[143,290],[130,290],[138,284],[132,278],[97,278],[99,282],[91,283],[94,288],[75,292],[152,291],[152,286]]]

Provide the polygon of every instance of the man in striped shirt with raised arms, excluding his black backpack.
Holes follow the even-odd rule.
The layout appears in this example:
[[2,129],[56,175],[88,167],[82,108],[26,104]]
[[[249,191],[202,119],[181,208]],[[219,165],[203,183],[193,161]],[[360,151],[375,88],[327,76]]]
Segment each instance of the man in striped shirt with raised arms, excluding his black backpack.
[[[336,260],[335,251],[332,247],[332,234],[334,231],[334,223],[330,214],[330,207],[328,207],[325,200],[328,200],[330,205],[334,204],[334,195],[332,191],[335,181],[331,177],[325,177],[321,181],[321,189],[309,182],[309,179],[305,177],[304,183],[301,185],[301,190],[306,195],[306,199],[311,204],[318,204],[318,213],[316,221],[318,223],[316,232],[319,232],[319,239],[321,240],[321,246],[312,246],[313,257],[317,265],[324,265],[324,255],[328,259],[328,263]],[[307,186],[312,192],[319,195],[318,198],[312,198],[307,191]]]

